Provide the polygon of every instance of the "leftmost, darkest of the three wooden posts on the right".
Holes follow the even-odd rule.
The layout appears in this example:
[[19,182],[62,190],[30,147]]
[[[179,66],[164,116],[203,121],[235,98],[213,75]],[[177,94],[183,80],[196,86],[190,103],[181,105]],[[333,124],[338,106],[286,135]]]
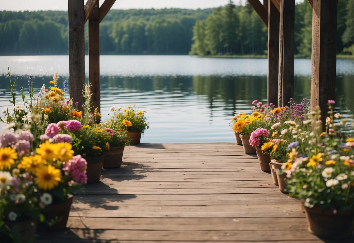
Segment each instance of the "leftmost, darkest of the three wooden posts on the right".
[[278,106],[279,11],[268,1],[268,104]]

